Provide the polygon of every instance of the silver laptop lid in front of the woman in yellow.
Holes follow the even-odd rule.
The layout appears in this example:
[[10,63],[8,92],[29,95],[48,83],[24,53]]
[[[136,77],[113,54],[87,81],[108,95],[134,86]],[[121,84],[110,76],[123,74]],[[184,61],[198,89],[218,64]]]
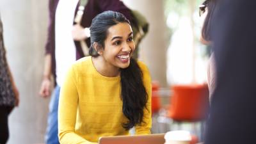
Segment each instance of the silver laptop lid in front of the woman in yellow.
[[164,144],[164,134],[107,136],[101,137],[99,144]]

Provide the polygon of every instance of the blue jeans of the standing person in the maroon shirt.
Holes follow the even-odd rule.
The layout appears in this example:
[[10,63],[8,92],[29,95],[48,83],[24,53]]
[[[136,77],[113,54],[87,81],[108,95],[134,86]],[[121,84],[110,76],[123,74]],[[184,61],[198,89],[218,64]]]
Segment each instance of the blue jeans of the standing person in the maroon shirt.
[[46,144],[60,144],[58,138],[58,105],[60,97],[60,86],[56,86],[51,95],[49,114],[47,118],[47,129],[45,134]]

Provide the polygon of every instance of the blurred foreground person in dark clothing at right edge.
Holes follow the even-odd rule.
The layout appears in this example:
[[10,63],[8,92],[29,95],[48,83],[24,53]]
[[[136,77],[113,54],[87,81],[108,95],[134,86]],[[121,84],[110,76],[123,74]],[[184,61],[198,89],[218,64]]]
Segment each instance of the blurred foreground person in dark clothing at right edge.
[[205,144],[256,143],[256,1],[218,1],[211,36],[216,89]]

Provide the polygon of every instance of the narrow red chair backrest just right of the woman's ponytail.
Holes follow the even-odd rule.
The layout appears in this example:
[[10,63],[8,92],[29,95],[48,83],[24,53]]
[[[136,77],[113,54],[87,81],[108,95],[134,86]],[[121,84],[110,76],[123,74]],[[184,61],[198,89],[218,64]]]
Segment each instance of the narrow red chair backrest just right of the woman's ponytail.
[[156,81],[152,82],[152,102],[151,102],[151,108],[152,108],[152,114],[157,113],[160,109],[160,98],[159,98],[159,83]]

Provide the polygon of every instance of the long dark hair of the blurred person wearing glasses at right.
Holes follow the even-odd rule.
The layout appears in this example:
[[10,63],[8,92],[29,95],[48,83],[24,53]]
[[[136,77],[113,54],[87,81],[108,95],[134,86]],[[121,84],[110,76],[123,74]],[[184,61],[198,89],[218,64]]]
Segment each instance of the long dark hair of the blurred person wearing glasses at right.
[[214,9],[216,6],[216,0],[206,0],[204,3],[202,3],[206,6],[207,8],[207,15],[204,20],[204,24],[202,27],[202,38],[204,40],[210,42],[211,41],[211,23],[212,23],[212,15],[214,13]]

